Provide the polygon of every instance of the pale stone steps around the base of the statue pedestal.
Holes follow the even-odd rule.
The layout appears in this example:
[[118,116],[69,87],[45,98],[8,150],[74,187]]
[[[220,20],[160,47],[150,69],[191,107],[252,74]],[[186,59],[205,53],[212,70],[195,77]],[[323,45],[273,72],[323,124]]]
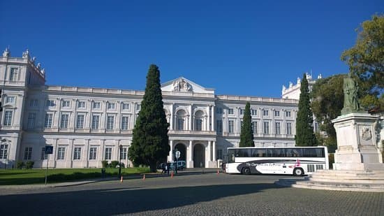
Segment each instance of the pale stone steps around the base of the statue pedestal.
[[286,178],[275,183],[308,189],[384,192],[384,171],[319,170],[304,179]]

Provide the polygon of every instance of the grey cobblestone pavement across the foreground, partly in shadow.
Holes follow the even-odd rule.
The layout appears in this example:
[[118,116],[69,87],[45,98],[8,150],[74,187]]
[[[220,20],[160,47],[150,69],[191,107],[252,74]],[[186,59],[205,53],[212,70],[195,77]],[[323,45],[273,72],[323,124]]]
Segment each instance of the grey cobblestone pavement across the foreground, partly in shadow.
[[384,193],[280,187],[279,178],[191,172],[0,189],[0,215],[384,215]]

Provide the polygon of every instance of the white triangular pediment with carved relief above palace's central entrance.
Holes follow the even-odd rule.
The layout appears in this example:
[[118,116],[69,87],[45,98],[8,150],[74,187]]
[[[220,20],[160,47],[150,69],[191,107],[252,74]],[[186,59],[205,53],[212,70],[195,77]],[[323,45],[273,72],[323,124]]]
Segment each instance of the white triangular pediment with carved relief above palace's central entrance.
[[187,80],[184,77],[176,78],[175,80],[170,80],[161,85],[161,90],[163,92],[193,92],[193,93],[203,93],[203,94],[214,94],[214,89],[208,89],[197,85],[191,80]]

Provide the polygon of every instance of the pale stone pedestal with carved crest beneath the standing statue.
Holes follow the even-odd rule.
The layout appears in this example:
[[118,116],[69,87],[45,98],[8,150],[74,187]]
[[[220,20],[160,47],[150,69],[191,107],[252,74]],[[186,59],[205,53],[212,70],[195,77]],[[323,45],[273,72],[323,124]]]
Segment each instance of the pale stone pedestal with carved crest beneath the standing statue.
[[368,113],[349,113],[332,120],[337,134],[335,170],[384,171],[383,158],[376,147],[376,120]]

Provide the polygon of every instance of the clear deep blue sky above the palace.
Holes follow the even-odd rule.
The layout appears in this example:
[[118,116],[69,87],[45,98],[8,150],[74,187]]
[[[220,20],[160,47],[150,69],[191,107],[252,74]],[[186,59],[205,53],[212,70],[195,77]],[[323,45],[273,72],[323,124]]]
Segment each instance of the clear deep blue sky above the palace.
[[0,49],[47,85],[145,89],[184,76],[216,94],[281,96],[306,71],[346,73],[355,29],[383,1],[0,1]]

